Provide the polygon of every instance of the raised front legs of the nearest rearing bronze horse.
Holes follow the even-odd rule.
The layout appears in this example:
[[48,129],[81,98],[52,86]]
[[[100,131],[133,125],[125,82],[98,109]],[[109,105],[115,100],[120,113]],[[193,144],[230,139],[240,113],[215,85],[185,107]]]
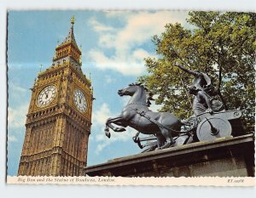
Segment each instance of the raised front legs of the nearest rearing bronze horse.
[[[124,126],[124,127],[115,127],[113,124]],[[110,133],[109,133],[109,127],[114,131],[114,132],[124,132],[126,125],[124,124],[125,121],[123,119],[123,116],[117,116],[114,118],[108,118],[106,122],[106,127],[105,127],[105,134],[108,138],[110,138]]]

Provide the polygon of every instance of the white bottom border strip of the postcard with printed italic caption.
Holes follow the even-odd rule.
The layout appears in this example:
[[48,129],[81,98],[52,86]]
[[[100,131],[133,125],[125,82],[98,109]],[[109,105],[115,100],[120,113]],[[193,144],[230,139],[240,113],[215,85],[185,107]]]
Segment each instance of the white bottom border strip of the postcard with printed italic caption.
[[253,177],[124,178],[124,177],[7,177],[7,184],[82,184],[131,186],[255,186]]

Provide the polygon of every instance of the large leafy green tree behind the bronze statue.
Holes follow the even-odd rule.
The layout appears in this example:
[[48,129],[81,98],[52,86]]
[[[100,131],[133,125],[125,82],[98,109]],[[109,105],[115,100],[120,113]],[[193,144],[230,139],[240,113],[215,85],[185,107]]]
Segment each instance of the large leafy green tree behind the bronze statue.
[[174,65],[206,72],[223,98],[228,110],[241,107],[247,129],[254,125],[254,66],[256,57],[256,14],[237,12],[189,12],[186,29],[167,24],[153,37],[158,58],[146,58],[148,76],[140,76],[161,111],[170,111],[181,119],[192,114],[192,96],[184,84],[193,76]]

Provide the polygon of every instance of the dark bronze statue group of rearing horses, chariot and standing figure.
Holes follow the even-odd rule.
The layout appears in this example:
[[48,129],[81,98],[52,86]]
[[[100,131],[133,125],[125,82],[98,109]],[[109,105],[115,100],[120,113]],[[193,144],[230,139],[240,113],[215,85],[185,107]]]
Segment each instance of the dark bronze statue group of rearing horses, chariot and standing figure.
[[[229,136],[232,133],[230,123],[238,123],[236,127],[241,125],[241,110],[224,110],[223,104],[209,94],[211,83],[206,83],[207,80],[202,79],[204,76],[197,77],[194,82],[198,86],[189,87],[189,93],[195,95],[195,116],[183,122],[172,113],[149,110],[153,94],[141,83],[132,83],[128,88],[120,89],[119,96],[128,95],[131,99],[119,116],[108,118],[106,136],[110,138],[109,127],[114,132],[124,132],[125,127],[133,127],[138,131],[133,141],[141,149],[146,148],[143,152]],[[241,127],[238,128],[241,131]],[[140,133],[148,134],[148,137],[139,138]],[[145,141],[147,144],[141,144]]]

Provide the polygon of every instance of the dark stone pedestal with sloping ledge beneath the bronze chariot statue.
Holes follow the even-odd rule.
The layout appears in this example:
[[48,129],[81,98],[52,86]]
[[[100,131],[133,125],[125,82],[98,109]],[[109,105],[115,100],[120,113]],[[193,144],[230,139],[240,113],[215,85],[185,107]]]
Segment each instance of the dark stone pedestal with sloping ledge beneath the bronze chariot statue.
[[84,175],[122,177],[254,177],[253,134],[125,156],[84,167]]

